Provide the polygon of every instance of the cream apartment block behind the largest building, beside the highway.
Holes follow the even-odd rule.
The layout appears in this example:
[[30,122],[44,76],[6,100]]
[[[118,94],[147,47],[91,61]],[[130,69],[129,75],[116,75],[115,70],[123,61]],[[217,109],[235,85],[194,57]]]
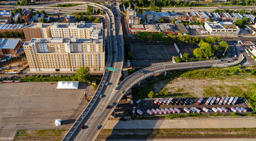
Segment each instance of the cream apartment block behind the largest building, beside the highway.
[[85,24],[84,21],[80,21],[80,23],[51,23],[52,37],[71,38],[71,36],[77,36],[79,39],[99,39],[102,38],[102,31],[102,24]]

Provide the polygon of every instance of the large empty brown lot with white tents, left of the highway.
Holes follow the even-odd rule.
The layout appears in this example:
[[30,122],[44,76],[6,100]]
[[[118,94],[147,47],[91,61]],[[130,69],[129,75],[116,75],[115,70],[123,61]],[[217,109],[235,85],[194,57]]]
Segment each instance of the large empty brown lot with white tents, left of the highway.
[[[0,137],[14,137],[17,129],[69,128],[87,105],[85,87],[56,88],[57,83],[0,83]],[[55,119],[65,125],[55,126]]]

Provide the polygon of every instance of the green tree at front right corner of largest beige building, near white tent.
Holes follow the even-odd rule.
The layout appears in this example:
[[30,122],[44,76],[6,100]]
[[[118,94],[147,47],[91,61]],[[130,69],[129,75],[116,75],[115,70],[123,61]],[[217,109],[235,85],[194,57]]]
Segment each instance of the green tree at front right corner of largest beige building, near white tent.
[[80,67],[77,71],[76,71],[76,79],[79,82],[89,82],[90,80],[90,68],[88,68],[88,66],[86,67]]

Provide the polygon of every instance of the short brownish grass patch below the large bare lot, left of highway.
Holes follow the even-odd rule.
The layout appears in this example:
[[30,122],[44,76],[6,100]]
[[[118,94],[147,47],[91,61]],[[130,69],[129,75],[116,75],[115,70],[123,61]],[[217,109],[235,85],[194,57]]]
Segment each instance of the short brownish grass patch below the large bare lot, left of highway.
[[15,133],[17,137],[63,137],[68,129],[20,129]]

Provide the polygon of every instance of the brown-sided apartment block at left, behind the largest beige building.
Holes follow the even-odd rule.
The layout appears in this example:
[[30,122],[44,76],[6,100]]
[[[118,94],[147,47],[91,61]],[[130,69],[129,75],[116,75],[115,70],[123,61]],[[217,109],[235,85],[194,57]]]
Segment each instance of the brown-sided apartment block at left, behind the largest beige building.
[[30,41],[32,38],[51,38],[50,25],[38,22],[22,28],[26,41]]

